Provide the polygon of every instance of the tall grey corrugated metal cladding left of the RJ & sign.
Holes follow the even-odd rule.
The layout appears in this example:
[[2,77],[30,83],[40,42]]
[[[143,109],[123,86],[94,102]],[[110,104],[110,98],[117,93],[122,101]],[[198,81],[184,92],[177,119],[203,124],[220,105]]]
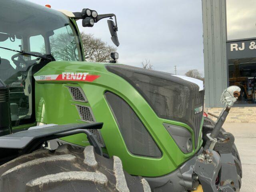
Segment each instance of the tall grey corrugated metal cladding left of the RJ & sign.
[[226,59],[226,0],[202,0],[206,107],[220,107],[228,86]]

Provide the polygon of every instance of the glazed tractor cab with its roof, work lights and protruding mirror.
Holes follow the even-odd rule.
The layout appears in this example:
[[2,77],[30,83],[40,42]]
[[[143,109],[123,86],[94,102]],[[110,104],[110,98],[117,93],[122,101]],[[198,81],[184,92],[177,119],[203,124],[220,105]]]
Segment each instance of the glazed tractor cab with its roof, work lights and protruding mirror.
[[[114,14],[94,10],[57,11],[30,2],[1,2],[0,79],[10,89],[12,126],[35,122],[34,78],[50,61],[84,61],[76,20],[84,27]],[[115,16],[114,16],[115,17]],[[113,42],[119,45],[117,26],[108,21]],[[112,26],[111,26],[112,25]]]

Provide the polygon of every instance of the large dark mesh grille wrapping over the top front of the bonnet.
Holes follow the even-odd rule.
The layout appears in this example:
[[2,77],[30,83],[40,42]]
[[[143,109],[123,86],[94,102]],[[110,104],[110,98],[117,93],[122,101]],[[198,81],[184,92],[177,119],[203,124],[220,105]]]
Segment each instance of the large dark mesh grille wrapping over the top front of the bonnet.
[[202,112],[194,114],[194,109],[204,105],[204,91],[199,92],[198,85],[166,72],[133,66],[109,64],[106,69],[134,86],[158,117],[190,126],[197,145]]

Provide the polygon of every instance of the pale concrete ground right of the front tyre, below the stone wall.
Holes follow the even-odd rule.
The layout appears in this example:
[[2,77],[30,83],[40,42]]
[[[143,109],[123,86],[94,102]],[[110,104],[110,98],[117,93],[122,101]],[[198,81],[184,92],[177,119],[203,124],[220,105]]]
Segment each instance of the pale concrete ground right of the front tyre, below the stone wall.
[[240,192],[256,192],[256,123],[225,123],[223,128],[235,136],[242,161]]

